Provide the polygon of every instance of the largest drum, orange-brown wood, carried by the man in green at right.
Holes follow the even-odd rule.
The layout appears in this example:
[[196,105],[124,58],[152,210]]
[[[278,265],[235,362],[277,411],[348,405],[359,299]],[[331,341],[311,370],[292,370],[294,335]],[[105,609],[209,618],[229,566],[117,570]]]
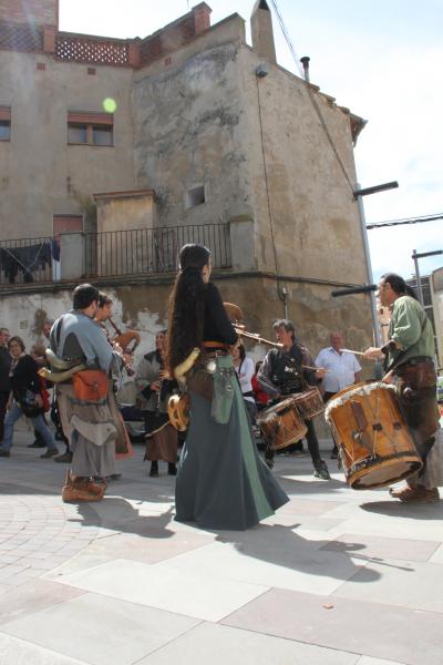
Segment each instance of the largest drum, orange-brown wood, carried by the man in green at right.
[[324,418],[339,448],[347,482],[354,490],[398,482],[423,466],[393,386],[350,386],[329,401]]

